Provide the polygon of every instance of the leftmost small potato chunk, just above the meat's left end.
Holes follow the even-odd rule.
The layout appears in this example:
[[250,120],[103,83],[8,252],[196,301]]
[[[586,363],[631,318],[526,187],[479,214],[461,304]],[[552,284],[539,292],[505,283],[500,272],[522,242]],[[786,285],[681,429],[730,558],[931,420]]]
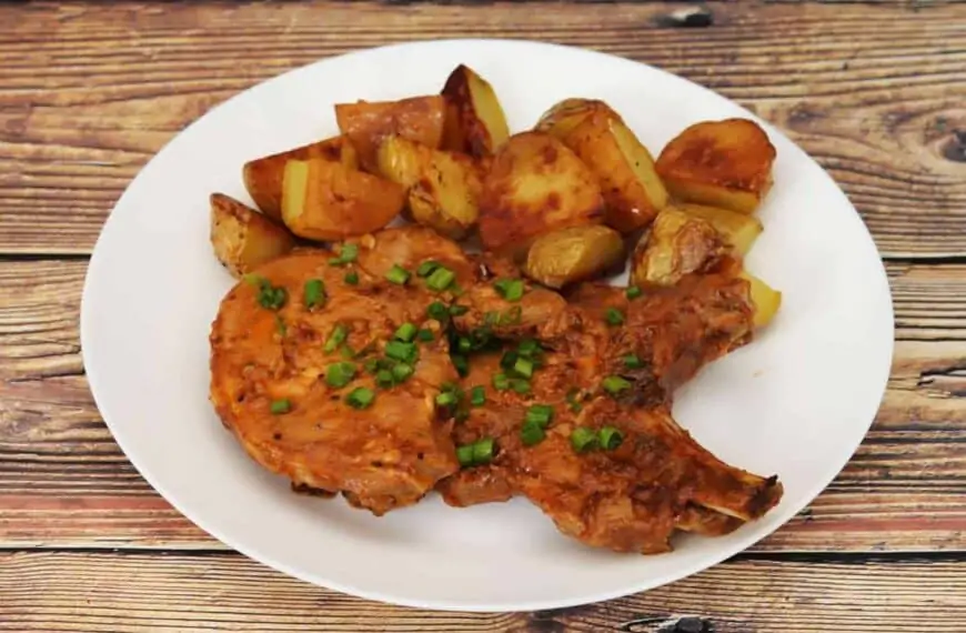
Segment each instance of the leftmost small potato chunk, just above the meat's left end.
[[223,193],[212,193],[211,245],[234,277],[251,272],[295,247],[288,229]]

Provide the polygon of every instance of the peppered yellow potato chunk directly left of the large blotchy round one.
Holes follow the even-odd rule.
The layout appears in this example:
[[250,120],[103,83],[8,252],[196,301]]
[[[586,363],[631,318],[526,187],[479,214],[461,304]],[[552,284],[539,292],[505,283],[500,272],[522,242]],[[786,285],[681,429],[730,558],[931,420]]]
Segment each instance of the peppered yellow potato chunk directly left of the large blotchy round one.
[[402,137],[379,148],[379,171],[406,188],[413,221],[460,240],[476,224],[483,187],[473,159],[434,150]]

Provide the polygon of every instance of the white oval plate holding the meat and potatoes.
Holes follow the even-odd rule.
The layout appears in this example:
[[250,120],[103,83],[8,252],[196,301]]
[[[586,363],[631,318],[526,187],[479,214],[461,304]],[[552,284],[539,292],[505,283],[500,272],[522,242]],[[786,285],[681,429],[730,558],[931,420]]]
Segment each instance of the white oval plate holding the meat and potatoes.
[[628,60],[520,41],[436,41],[294,70],[215,108],[143,169],[111,213],[88,271],[84,363],[98,406],[141,474],[203,530],[289,574],[365,597],[510,611],[647,590],[767,535],[817,495],[862,441],[889,371],[893,315],[872,239],[832,179],[775,129],[775,187],[748,267],[784,292],[752,345],[681,393],[681,423],[732,464],[777,473],[782,503],[718,539],[618,555],[560,535],[524,500],[465,510],[430,498],[376,519],[289,492],[222,429],[208,402],[209,326],[232,280],[208,241],[208,197],[248,201],[245,160],[336,131],[332,104],[437,92],[466,63],[490,79],[511,129],[566,97],[604,99],[656,154],[687,124],[752,117]]

